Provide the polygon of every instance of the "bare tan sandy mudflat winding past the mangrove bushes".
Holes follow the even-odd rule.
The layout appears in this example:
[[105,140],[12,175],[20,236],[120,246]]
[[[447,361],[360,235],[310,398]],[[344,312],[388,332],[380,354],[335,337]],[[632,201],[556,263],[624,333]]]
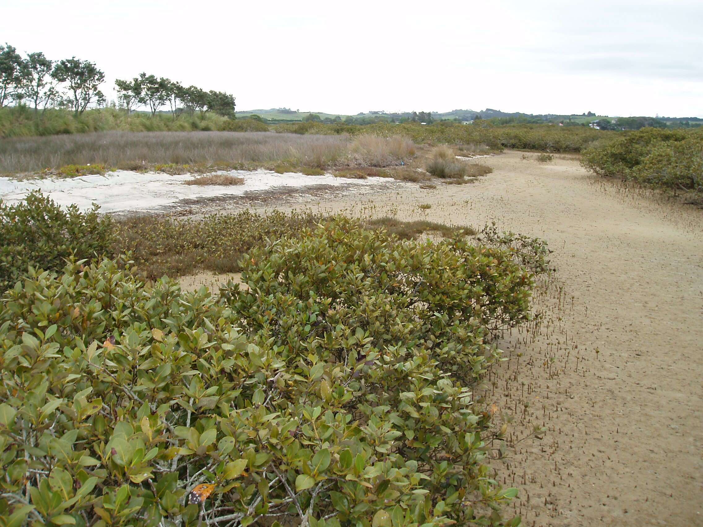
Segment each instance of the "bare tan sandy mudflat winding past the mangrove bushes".
[[521,489],[512,507],[527,526],[703,526],[703,212],[573,157],[529,157],[482,160],[495,171],[474,185],[312,208],[546,238],[558,272],[536,295],[542,324],[506,336],[510,360],[482,393],[514,417],[512,437],[549,432],[494,462],[496,479]]

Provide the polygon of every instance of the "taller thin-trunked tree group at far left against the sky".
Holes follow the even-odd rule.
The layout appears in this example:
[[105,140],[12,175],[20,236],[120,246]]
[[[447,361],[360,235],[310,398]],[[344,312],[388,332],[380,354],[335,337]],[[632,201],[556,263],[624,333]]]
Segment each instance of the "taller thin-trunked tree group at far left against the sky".
[[70,108],[76,115],[91,104],[105,103],[99,86],[105,74],[89,60],[50,60],[44,53],[22,58],[10,44],[0,44],[0,108],[27,101],[37,112],[49,105]]

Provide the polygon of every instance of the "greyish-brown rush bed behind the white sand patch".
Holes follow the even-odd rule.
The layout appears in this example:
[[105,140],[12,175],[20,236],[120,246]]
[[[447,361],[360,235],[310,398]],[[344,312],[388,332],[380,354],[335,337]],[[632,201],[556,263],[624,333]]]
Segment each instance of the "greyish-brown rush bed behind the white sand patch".
[[8,139],[0,143],[0,172],[75,177],[112,169],[202,174],[264,167],[279,174],[318,176],[335,170],[342,177],[408,179],[403,171],[396,174],[380,167],[401,167],[414,156],[415,144],[403,136],[101,132]]

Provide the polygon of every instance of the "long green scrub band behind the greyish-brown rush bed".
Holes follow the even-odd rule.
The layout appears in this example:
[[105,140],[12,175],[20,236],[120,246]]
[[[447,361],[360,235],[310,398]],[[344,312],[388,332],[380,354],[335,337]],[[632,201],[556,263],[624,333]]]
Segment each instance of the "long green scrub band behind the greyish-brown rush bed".
[[[403,136],[415,143],[457,145],[462,151],[481,153],[503,148],[547,152],[580,152],[596,141],[609,140],[619,132],[588,126],[553,126],[550,124],[516,124],[491,126],[450,122],[435,124],[344,124],[299,122],[266,125],[257,119],[228,119],[214,113],[200,116],[128,115],[123,110],[100,108],[75,116],[72,112],[49,109],[37,118],[29,108],[0,108],[0,137],[78,134],[92,131],[276,131],[300,135],[373,135]],[[475,147],[475,148],[467,148]]]

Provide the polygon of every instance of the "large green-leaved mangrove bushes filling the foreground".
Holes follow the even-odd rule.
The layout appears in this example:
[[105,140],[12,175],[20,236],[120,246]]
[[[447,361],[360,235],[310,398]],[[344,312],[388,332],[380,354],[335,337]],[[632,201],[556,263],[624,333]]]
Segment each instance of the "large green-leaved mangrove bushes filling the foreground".
[[509,238],[294,221],[219,297],[99,250],[30,268],[0,308],[0,519],[517,526],[471,394],[529,318],[538,267]]

